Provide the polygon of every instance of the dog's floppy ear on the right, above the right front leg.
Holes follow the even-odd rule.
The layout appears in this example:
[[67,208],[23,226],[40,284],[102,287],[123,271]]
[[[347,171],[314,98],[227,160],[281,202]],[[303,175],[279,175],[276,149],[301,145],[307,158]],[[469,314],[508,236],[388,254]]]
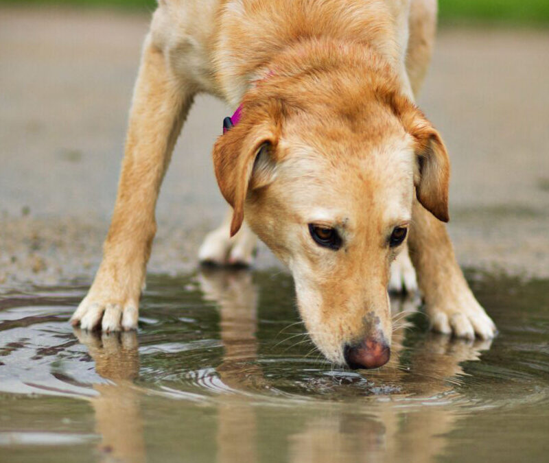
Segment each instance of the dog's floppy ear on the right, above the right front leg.
[[404,127],[414,137],[418,170],[414,176],[417,200],[442,222],[448,222],[450,165],[441,135],[415,106],[403,117]]

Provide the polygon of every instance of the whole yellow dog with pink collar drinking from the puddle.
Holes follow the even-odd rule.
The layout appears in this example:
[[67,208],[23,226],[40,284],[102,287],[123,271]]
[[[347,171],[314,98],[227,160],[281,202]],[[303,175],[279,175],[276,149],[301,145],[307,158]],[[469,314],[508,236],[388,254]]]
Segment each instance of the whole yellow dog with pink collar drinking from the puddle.
[[290,268],[310,337],[341,366],[388,361],[395,260],[391,280],[413,286],[411,258],[435,331],[493,337],[443,223],[445,145],[414,103],[436,9],[435,0],[159,0],[103,260],[73,324],[137,328],[159,188],[194,95],[207,92],[237,110],[213,148],[231,212],[200,260],[250,263],[257,235]]

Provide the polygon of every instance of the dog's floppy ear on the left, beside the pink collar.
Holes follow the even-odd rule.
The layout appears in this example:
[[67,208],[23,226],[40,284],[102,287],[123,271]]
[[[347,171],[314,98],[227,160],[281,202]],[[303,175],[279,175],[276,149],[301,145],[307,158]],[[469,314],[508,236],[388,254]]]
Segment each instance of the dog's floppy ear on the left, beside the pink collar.
[[277,136],[270,123],[250,123],[244,119],[220,136],[213,147],[215,177],[223,197],[233,207],[231,237],[244,221],[248,189],[268,183],[273,162],[270,154],[276,145]]

